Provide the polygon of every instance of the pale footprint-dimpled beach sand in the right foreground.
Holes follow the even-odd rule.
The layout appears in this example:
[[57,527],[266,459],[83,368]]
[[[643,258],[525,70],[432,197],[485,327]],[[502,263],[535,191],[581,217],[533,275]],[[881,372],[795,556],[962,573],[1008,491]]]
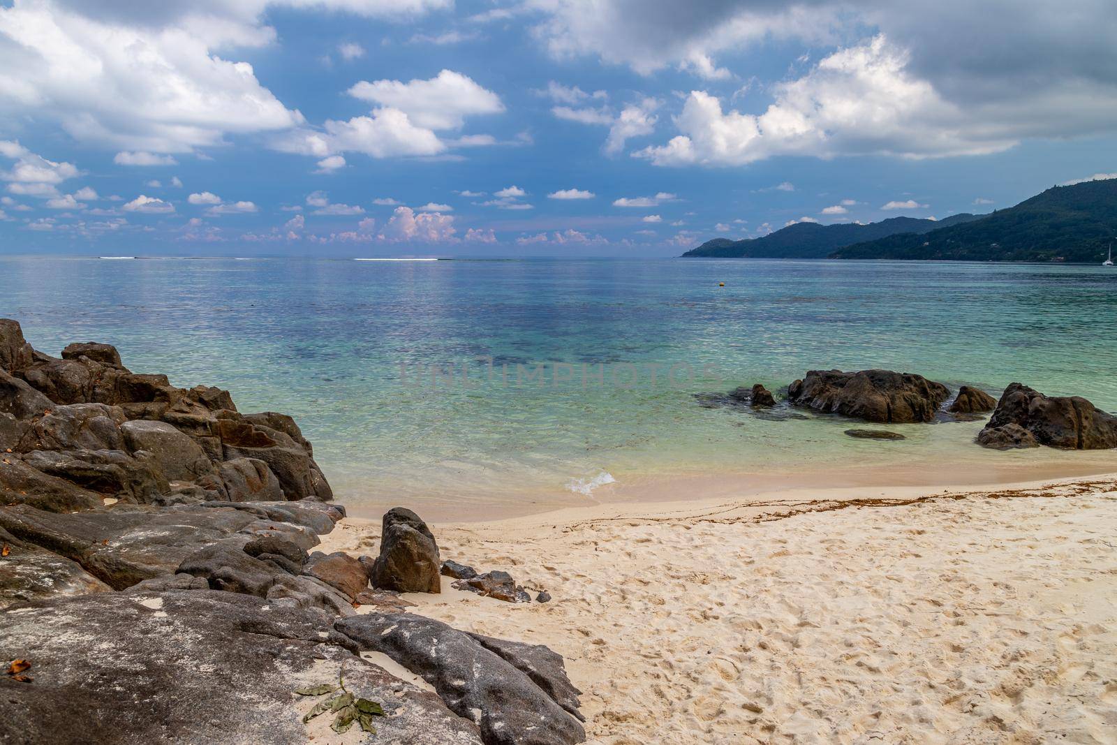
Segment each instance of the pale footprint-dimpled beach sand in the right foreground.
[[554,600],[407,598],[561,652],[592,743],[1117,743],[1117,475],[1030,486],[436,525]]

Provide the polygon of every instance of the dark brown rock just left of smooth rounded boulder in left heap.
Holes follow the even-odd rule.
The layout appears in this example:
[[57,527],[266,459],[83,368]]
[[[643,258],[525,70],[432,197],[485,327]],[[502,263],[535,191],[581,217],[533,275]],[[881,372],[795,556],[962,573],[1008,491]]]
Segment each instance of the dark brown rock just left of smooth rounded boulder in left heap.
[[157,465],[143,453],[132,457],[120,450],[36,450],[23,461],[42,474],[122,502],[150,504],[169,488]]

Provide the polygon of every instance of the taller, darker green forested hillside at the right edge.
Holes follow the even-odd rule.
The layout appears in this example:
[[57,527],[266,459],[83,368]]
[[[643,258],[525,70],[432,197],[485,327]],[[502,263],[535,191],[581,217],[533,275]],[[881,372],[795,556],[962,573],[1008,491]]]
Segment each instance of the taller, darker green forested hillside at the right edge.
[[1052,187],[980,220],[924,235],[865,239],[832,258],[1100,264],[1115,236],[1117,179],[1109,179]]

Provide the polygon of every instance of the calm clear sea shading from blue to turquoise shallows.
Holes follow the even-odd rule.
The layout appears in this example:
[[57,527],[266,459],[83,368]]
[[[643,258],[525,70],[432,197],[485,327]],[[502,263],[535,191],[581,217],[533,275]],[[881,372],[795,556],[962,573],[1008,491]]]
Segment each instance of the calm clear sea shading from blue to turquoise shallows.
[[[813,367],[994,392],[1019,380],[1117,409],[1117,271],[1101,267],[0,258],[0,316],[44,351],[109,342],[133,370],[294,414],[357,503],[576,498],[603,474],[619,487],[1080,455],[984,451],[980,422],[852,440],[847,421],[767,421],[693,395],[775,391]],[[546,380],[528,378],[540,363]],[[429,365],[451,364],[452,383],[432,382]]]

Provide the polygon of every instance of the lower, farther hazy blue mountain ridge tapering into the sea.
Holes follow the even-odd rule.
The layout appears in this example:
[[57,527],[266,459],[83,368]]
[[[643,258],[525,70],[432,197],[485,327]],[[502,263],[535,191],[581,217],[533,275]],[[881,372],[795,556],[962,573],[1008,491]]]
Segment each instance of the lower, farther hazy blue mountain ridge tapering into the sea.
[[952,214],[943,220],[889,218],[880,222],[858,225],[842,222],[819,225],[796,222],[762,238],[728,240],[715,238],[684,254],[685,258],[756,258],[756,259],[823,259],[836,250],[853,243],[887,238],[897,233],[923,235],[937,228],[983,218],[982,214]]

